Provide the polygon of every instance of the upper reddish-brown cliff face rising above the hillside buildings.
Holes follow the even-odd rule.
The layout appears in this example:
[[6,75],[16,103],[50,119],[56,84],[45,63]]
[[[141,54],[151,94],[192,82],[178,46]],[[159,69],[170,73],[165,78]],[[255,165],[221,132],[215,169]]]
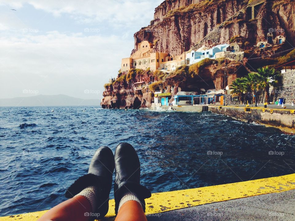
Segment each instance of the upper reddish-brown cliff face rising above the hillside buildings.
[[[137,50],[138,43],[144,40],[158,40],[156,51],[176,55],[183,52],[184,42],[188,50],[202,45],[229,43],[230,38],[236,35],[256,45],[258,41],[267,40],[270,28],[284,30],[275,32],[274,37],[284,35],[291,41],[291,45],[294,43],[294,2],[265,1],[255,6],[255,20],[251,20],[248,1],[205,2],[164,1],[155,9],[155,20],[151,21],[151,25],[134,34],[133,52]],[[171,10],[174,12],[171,13]]]

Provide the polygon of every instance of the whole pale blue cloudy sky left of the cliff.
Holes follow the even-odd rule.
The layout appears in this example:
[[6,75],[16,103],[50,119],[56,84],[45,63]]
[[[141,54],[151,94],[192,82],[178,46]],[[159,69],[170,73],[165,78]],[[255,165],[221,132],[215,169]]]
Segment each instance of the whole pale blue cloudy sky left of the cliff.
[[101,99],[162,1],[0,0],[0,98]]

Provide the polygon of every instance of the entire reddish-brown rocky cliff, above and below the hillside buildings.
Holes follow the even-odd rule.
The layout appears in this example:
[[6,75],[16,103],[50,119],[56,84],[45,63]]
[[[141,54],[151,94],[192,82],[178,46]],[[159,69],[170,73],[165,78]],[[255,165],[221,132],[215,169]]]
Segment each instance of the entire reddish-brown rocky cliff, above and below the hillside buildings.
[[[252,58],[272,55],[294,47],[295,42],[295,2],[271,0],[165,0],[155,9],[154,20],[150,25],[141,28],[134,34],[135,45],[132,54],[138,50],[141,41],[156,42],[154,51],[180,55],[202,45],[212,47],[218,44],[237,42],[245,51],[243,62],[230,62],[228,84],[236,77],[263,65],[273,64],[272,58]],[[286,42],[271,45],[263,50],[256,45],[259,41],[268,41],[271,31],[273,38],[284,36]],[[281,56],[283,54],[279,54]],[[249,58],[249,60],[247,60]],[[119,64],[118,64],[119,65]],[[162,87],[167,91],[173,88],[172,94],[185,88],[224,87],[224,64],[209,64],[195,78],[189,75],[168,76]],[[146,82],[159,80],[152,72],[144,72]],[[127,75],[120,73],[118,77]],[[200,81],[202,79],[202,81]],[[204,80],[205,79],[205,80]],[[132,83],[143,80],[135,76],[128,83],[116,82],[106,87],[102,107],[137,108],[148,107],[153,102],[152,91],[133,90]],[[205,82],[204,82],[205,81]],[[190,85],[191,84],[191,85]],[[177,90],[177,91],[176,91]]]

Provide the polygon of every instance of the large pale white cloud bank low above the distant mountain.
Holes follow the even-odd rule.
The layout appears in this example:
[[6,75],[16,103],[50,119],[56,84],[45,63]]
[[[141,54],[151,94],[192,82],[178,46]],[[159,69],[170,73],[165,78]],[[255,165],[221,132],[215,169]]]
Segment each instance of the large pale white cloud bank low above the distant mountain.
[[[66,94],[102,98],[103,85],[115,77],[121,58],[133,40],[117,36],[44,35],[0,38],[0,94],[2,98],[40,94]],[[85,90],[100,91],[85,94]]]

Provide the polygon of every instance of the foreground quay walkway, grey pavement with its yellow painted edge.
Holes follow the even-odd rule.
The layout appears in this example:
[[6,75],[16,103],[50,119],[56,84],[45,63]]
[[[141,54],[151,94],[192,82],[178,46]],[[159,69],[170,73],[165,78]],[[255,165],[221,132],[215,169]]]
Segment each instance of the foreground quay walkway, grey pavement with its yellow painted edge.
[[[114,220],[109,201],[107,219]],[[295,173],[171,192],[153,193],[146,215],[153,220],[295,220]],[[0,217],[34,221],[46,211]]]

